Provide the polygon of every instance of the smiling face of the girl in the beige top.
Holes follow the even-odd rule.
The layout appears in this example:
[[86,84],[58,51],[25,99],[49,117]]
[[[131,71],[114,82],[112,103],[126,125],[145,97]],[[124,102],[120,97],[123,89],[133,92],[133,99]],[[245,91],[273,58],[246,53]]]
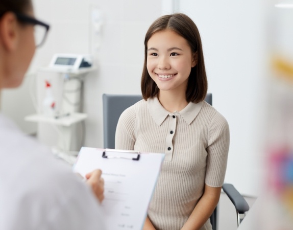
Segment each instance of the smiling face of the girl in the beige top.
[[185,38],[173,30],[156,32],[148,41],[147,68],[160,90],[185,93],[197,61]]

